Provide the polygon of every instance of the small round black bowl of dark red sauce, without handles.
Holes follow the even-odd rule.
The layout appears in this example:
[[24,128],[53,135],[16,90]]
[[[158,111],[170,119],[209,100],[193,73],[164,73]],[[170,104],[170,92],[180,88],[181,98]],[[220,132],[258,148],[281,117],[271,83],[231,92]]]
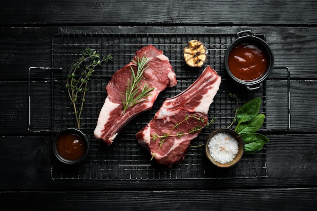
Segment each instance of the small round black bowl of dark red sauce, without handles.
[[88,139],[80,130],[64,129],[54,138],[53,152],[63,164],[78,164],[85,160],[89,152]]

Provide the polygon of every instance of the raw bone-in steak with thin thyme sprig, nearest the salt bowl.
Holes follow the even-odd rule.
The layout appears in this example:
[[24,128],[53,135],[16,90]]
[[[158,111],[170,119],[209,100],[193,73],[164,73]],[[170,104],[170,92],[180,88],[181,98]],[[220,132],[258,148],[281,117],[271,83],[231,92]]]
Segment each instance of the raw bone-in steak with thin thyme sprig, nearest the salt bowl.
[[[157,163],[171,167],[185,159],[190,141],[199,135],[200,130],[188,132],[193,128],[202,128],[208,123],[208,110],[219,89],[220,81],[221,77],[208,66],[185,91],[167,98],[154,118],[137,133],[138,142],[150,151]],[[183,121],[185,118],[187,121]],[[161,144],[160,136],[164,134],[169,136]],[[156,138],[153,138],[155,136]]]

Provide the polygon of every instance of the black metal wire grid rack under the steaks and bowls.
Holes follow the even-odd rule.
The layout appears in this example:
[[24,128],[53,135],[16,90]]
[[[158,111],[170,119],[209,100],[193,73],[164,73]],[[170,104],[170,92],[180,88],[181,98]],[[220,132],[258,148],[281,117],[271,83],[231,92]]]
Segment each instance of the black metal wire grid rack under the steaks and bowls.
[[[258,35],[265,39],[263,35]],[[185,90],[199,77],[203,68],[188,67],[183,62],[182,51],[191,39],[202,41],[208,48],[208,61],[222,77],[222,82],[214,102],[211,104],[209,118],[217,118],[215,125],[205,128],[201,134],[192,140],[186,158],[172,168],[166,168],[150,161],[150,154],[137,143],[135,134],[143,128],[159,110],[167,97],[175,96]],[[90,153],[85,163],[65,168],[54,160],[52,164],[53,179],[104,179],[104,180],[161,180],[161,179],[214,179],[214,178],[262,178],[267,177],[266,148],[255,154],[244,155],[239,164],[229,169],[218,169],[208,162],[203,147],[206,137],[215,128],[228,127],[235,111],[235,102],[229,93],[236,93],[239,106],[254,98],[262,97],[261,112],[266,115],[267,107],[267,81],[259,91],[248,92],[244,87],[227,79],[223,66],[223,58],[228,45],[234,41],[231,34],[56,34],[52,42],[52,69],[51,79],[47,81],[51,87],[51,131],[59,131],[67,127],[76,127],[70,108],[70,101],[66,93],[66,76],[72,62],[81,56],[81,52],[90,47],[101,55],[111,53],[113,62],[103,65],[94,72],[89,85],[82,128],[90,141]],[[153,44],[162,49],[164,55],[170,59],[174,68],[178,84],[176,87],[164,90],[155,101],[151,111],[141,114],[133,119],[116,137],[110,146],[105,146],[93,136],[99,111],[106,98],[105,86],[111,76],[118,69],[128,64],[135,51],[144,45]],[[273,72],[286,68],[274,69]],[[33,75],[31,75],[31,78]],[[272,79],[275,80],[275,79]],[[30,79],[30,81],[33,81]],[[287,77],[286,83],[289,81]],[[287,92],[288,90],[286,90]],[[286,95],[288,96],[288,95]],[[288,96],[289,98],[289,96]],[[286,98],[286,104],[289,99]],[[286,105],[288,111],[288,105]],[[268,128],[265,120],[261,130],[287,130],[289,118],[286,113],[286,122],[283,128]],[[37,130],[36,122],[32,121],[34,114],[30,109],[30,125]],[[36,120],[36,118],[35,118]],[[38,124],[37,124],[38,125]],[[43,125],[41,125],[43,126]],[[41,127],[38,126],[38,127]]]

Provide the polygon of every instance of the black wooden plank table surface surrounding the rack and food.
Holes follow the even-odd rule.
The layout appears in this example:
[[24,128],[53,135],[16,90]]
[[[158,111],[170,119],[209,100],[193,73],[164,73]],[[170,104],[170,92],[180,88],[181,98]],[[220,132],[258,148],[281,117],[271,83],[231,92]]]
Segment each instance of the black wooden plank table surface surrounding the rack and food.
[[[316,11],[315,1],[0,3],[2,207],[9,210],[26,207],[40,210],[314,209],[317,205]],[[141,39],[134,44],[154,42],[167,52],[172,52],[169,48],[172,44],[181,43],[178,39],[205,39],[215,50],[210,51],[214,55],[210,65],[222,71],[221,59],[232,41],[230,37],[234,39],[234,34],[241,30],[265,35],[275,57],[276,69],[264,92],[260,92],[265,97],[267,116],[264,133],[269,138],[260,152],[264,163],[256,167],[261,169],[260,173],[222,174],[208,166],[203,170],[210,167],[220,173],[206,177],[205,172],[196,174],[186,167],[188,161],[175,167],[175,171],[163,170],[169,175],[158,177],[148,176],[153,171],[162,172],[153,170],[151,164],[146,167],[148,171],[138,169],[146,176],[136,174],[137,170],[126,164],[120,172],[120,165],[115,162],[103,169],[86,163],[86,171],[91,166],[95,168],[95,174],[90,171],[89,176],[75,170],[71,176],[65,175],[63,171],[69,170],[55,166],[51,152],[54,132],[47,120],[52,121],[54,115],[52,87],[57,85],[52,85],[50,73],[49,76],[45,73],[54,70],[39,67],[65,69],[74,58],[69,55],[81,49],[77,44],[101,46],[103,50],[111,41],[108,38],[102,41],[105,36],[133,35],[134,41]],[[144,38],[146,42],[142,42]],[[126,42],[130,45],[132,41],[129,38]],[[180,68],[178,59],[177,56],[173,59],[176,69]],[[41,73],[45,74],[41,76]],[[45,132],[45,128],[50,130]],[[99,150],[98,146],[104,147],[96,144],[95,150]],[[113,171],[118,168],[117,172],[123,175],[111,178],[109,168]],[[187,175],[179,176],[183,168],[187,168]],[[102,172],[101,176],[98,171]]]

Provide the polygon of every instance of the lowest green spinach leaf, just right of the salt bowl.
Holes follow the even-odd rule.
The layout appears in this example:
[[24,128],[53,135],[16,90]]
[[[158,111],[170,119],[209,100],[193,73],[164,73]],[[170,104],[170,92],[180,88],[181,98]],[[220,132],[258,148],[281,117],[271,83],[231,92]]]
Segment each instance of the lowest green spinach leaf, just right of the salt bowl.
[[268,142],[268,138],[261,134],[246,134],[243,135],[245,142],[244,153],[252,154],[263,148],[263,146]]

